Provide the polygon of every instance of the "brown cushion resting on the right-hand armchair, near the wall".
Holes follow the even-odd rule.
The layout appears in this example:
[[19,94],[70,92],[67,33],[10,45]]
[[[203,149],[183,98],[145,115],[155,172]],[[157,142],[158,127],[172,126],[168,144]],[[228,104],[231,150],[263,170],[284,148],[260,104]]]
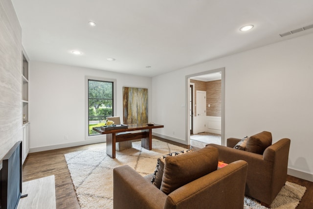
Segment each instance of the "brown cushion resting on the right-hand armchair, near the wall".
[[263,154],[264,150],[272,144],[272,134],[263,131],[251,136],[246,142],[246,151],[257,154]]

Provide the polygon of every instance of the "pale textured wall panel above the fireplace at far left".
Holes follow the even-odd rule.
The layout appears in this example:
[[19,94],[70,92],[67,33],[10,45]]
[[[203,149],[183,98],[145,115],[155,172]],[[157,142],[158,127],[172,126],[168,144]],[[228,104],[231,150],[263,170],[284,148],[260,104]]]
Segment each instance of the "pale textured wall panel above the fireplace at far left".
[[21,140],[22,30],[11,0],[0,0],[0,160]]

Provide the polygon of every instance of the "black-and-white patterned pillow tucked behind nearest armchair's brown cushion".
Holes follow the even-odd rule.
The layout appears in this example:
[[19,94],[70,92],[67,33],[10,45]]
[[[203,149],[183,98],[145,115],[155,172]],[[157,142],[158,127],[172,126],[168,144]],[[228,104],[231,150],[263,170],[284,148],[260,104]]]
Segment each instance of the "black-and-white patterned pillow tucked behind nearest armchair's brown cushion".
[[169,154],[164,155],[162,157],[159,157],[157,159],[156,170],[152,176],[151,183],[153,185],[155,185],[158,189],[161,187],[162,177],[163,177],[163,169],[164,169],[164,163],[165,163],[166,157],[181,155],[181,154],[185,154],[185,153],[192,152],[192,151],[193,151],[192,149],[187,149],[187,150],[182,150],[179,152],[172,152],[172,153],[169,153]]

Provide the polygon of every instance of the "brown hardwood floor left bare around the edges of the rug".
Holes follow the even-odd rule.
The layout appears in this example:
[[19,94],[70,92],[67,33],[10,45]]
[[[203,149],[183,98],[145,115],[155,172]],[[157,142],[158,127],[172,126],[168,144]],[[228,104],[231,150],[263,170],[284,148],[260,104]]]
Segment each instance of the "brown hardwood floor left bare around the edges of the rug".
[[[184,148],[190,146],[169,141],[166,139],[154,137],[163,141],[179,145]],[[198,141],[191,141],[191,146],[195,149],[204,147],[205,144]],[[90,144],[64,149],[56,149],[45,152],[30,153],[23,164],[23,182],[42,178],[49,175],[55,176],[55,195],[57,209],[79,209],[76,192],[67,169],[64,154],[86,150],[94,147],[103,147],[104,143]],[[298,185],[306,186],[307,190],[297,206],[297,209],[312,209],[313,207],[313,182],[302,180],[296,177],[288,176],[287,181]]]

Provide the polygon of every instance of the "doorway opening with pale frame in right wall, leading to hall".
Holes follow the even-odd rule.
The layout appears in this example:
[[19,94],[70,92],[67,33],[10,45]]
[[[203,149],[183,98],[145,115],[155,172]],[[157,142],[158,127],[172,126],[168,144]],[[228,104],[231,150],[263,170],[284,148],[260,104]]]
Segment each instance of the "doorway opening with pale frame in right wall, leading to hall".
[[[212,102],[210,96],[206,98],[206,94],[204,94],[201,91],[197,91],[194,82],[197,83],[194,79],[201,80],[204,77],[219,77],[219,78],[213,78],[213,80],[219,80],[220,82],[220,94],[221,94],[221,99],[219,103],[219,108],[220,108],[220,115],[219,117],[217,116],[210,116],[213,108],[216,108],[216,105],[212,106]],[[192,80],[192,81],[190,81]],[[213,81],[212,80],[212,81]],[[205,83],[205,82],[203,82]],[[210,82],[212,83],[212,82]],[[198,88],[199,89],[199,88]],[[205,89],[202,89],[205,90]],[[202,98],[202,101],[198,101],[199,98],[197,98],[199,94],[199,97]],[[209,92],[208,92],[209,93]],[[201,96],[200,96],[201,95]],[[203,71],[200,73],[195,73],[191,75],[186,75],[186,106],[188,106],[186,114],[188,118],[186,120],[186,139],[187,143],[190,144],[190,135],[193,135],[195,133],[200,133],[203,132],[204,128],[204,133],[201,135],[216,135],[219,133],[216,133],[215,131],[220,132],[220,142],[218,144],[224,145],[224,68],[220,69],[215,69],[215,70],[208,70],[208,71]],[[203,99],[205,98],[205,99]],[[204,100],[204,102],[203,102]],[[213,99],[214,100],[214,99]],[[193,102],[192,102],[193,101]],[[195,104],[193,104],[195,103]],[[210,109],[211,107],[211,109]],[[199,111],[198,111],[199,109]],[[202,110],[202,111],[201,111]],[[206,114],[208,113],[208,114]],[[200,117],[198,117],[198,114]],[[198,118],[197,118],[198,117]],[[203,122],[203,119],[205,120]],[[204,125],[203,125],[204,124]],[[218,128],[220,127],[220,128]],[[220,130],[218,130],[220,129]],[[207,132],[210,132],[212,134],[207,134]],[[193,135],[194,137],[195,135]]]

